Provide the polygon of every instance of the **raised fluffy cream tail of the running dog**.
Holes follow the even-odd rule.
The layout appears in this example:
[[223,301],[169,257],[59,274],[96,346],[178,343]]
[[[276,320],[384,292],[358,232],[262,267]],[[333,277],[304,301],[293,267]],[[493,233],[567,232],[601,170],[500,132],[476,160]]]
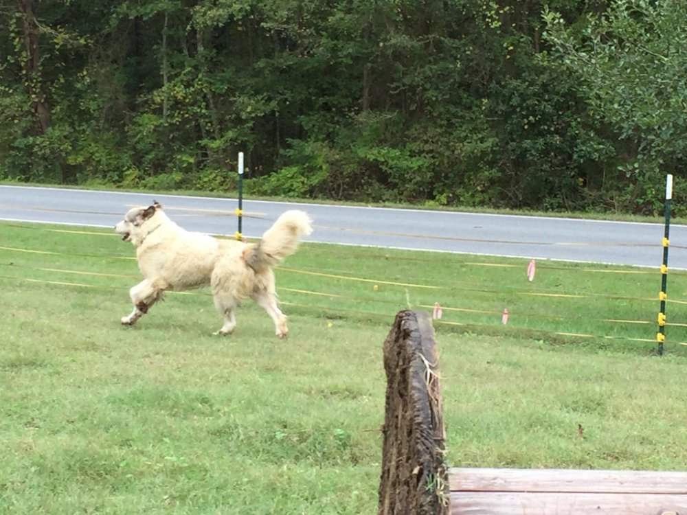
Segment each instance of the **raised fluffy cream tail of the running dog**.
[[304,211],[285,211],[262,235],[260,242],[245,253],[245,260],[256,271],[278,264],[293,254],[301,236],[313,232],[311,218]]

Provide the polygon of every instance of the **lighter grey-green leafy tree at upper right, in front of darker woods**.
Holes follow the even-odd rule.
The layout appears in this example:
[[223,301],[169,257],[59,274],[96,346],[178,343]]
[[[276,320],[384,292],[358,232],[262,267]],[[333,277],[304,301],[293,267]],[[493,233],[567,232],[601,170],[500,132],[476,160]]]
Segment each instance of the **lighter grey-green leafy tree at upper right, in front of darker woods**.
[[566,27],[556,12],[544,19],[555,55],[620,139],[613,194],[622,209],[660,211],[664,174],[686,164],[687,5],[616,0],[583,30]]

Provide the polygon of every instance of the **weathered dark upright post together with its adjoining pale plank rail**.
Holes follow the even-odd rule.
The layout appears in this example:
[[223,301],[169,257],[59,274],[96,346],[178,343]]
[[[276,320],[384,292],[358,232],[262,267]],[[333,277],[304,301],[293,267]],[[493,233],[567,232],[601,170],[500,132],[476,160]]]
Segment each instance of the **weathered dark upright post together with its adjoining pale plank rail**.
[[447,470],[436,342],[423,311],[396,314],[384,368],[378,515],[687,515],[687,472]]

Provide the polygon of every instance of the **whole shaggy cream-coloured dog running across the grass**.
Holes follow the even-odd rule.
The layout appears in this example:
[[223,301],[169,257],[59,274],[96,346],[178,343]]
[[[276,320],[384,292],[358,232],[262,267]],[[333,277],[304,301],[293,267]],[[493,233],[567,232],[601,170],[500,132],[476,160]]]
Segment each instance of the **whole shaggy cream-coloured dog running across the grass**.
[[272,267],[295,252],[301,236],[312,232],[311,219],[304,211],[284,212],[257,243],[186,231],[157,202],[129,209],[115,232],[136,247],[145,277],[129,292],[133,311],[122,317],[122,324],[136,323],[166,290],[212,286],[214,304],[225,319],[216,334],[234,331],[234,310],[247,297],[267,311],[277,336],[289,334],[286,316],[277,304]]

